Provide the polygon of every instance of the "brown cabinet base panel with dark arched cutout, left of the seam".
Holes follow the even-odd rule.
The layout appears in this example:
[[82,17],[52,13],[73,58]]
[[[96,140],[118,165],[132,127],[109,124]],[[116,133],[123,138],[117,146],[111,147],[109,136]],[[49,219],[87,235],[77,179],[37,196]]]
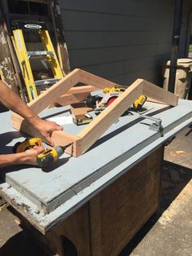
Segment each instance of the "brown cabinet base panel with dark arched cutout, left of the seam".
[[22,225],[28,230],[28,234],[45,249],[46,254],[55,256],[75,256],[76,253],[78,256],[90,255],[88,203],[81,206],[75,213],[44,235],[38,232],[24,216],[15,214],[19,215]]

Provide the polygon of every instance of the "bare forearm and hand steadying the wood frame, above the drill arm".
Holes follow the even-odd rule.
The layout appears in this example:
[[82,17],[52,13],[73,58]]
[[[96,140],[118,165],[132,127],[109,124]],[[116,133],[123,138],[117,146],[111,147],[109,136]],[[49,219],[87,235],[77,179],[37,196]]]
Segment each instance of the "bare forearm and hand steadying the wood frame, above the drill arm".
[[4,82],[0,81],[0,101],[7,108],[13,112],[18,113],[21,117],[24,117],[28,123],[40,131],[41,135],[46,139],[48,143],[54,145],[53,139],[51,139],[52,132],[54,130],[62,130],[61,126],[58,126],[53,121],[45,121],[33,113],[31,108],[28,108],[27,104],[20,99]]

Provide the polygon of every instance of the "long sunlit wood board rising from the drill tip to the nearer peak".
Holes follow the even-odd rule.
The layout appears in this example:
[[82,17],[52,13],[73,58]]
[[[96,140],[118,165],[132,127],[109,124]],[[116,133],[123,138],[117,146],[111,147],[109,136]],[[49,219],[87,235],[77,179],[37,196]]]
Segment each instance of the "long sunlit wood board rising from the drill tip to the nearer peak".
[[82,152],[76,152],[77,155],[84,153],[93,143],[103,135],[103,132],[112,125],[120,115],[124,113],[135,99],[142,95],[142,79],[137,79],[127,90],[124,91],[110,106],[98,115],[77,135],[81,138]]

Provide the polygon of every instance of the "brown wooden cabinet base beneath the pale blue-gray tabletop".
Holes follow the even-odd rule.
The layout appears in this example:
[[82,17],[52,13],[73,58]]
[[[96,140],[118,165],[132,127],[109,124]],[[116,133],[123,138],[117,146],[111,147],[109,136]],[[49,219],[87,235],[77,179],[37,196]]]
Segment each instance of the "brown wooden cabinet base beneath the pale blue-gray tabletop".
[[94,196],[41,241],[64,256],[116,256],[159,209],[164,148]]

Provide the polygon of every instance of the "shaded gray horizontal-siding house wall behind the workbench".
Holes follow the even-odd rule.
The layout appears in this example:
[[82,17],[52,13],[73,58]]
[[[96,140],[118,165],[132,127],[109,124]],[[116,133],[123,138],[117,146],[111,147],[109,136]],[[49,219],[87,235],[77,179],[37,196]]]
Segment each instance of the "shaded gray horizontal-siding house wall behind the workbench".
[[[173,0],[61,0],[71,68],[82,68],[129,85],[138,77],[162,83],[162,63],[170,58]],[[181,52],[185,54],[184,0]]]

